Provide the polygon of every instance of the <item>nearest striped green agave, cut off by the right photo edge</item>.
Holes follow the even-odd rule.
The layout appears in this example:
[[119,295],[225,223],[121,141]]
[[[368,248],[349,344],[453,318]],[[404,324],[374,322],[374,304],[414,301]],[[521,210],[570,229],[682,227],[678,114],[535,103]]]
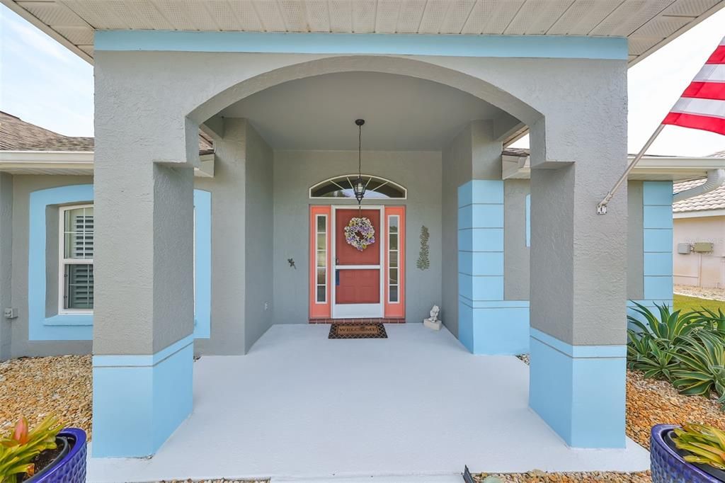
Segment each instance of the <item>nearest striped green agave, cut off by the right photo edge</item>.
[[671,351],[679,366],[672,371],[672,385],[684,395],[708,396],[714,389],[725,405],[725,343],[711,331],[698,331],[697,338],[682,336],[678,350]]

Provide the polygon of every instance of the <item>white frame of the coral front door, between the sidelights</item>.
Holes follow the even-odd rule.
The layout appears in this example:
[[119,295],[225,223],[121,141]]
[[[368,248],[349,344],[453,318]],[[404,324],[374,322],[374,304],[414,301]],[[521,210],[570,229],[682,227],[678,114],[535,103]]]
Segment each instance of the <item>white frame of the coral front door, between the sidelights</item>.
[[[363,205],[363,210],[380,210],[380,226],[376,233],[376,243],[380,249],[379,265],[337,265],[337,210],[357,210],[355,205],[332,205],[331,227],[332,227],[332,318],[383,318],[385,313],[385,206],[384,205]],[[340,304],[336,300],[337,271],[338,270],[372,270],[380,273],[380,297],[377,304]]]

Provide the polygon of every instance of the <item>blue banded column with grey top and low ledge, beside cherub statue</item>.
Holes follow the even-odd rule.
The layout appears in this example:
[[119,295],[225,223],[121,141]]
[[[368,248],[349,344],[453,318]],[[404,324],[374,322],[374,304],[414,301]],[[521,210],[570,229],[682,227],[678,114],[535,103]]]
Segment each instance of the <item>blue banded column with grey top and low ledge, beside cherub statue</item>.
[[444,184],[456,173],[467,180],[457,186],[458,339],[474,354],[527,352],[527,307],[504,300],[502,144],[490,121],[471,123],[453,144]]

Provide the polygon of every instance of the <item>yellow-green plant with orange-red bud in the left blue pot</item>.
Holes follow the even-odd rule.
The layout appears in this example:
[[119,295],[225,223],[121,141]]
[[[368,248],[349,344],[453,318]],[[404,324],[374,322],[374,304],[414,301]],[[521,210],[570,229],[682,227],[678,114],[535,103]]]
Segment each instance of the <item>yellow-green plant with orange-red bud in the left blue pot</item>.
[[21,418],[13,432],[0,439],[0,482],[15,483],[19,476],[33,476],[33,458],[45,450],[54,450],[55,437],[62,426],[57,418],[48,416],[32,430],[28,430],[28,419]]

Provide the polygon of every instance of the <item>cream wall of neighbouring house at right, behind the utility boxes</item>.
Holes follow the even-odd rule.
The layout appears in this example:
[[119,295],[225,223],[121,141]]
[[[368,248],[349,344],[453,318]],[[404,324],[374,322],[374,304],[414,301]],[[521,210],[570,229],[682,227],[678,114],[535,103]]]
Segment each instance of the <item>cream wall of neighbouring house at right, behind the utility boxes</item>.
[[[677,244],[709,241],[709,253],[677,252]],[[703,287],[725,287],[725,216],[675,218],[674,220],[674,283]]]

